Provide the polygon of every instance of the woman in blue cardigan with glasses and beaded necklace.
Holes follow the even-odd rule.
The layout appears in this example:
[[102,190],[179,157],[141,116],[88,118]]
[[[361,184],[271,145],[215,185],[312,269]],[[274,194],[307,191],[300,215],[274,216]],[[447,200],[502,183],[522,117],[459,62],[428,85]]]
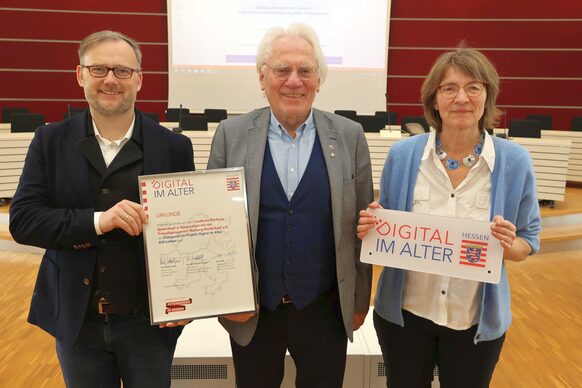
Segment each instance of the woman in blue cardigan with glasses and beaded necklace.
[[[441,55],[421,88],[434,130],[394,144],[370,208],[491,221],[504,260],[534,254],[540,216],[530,156],[485,130],[499,119],[498,93],[482,53]],[[358,237],[374,225],[360,211]],[[489,385],[511,322],[505,264],[499,284],[386,267],[374,306],[390,388],[430,386],[435,365],[441,387]]]

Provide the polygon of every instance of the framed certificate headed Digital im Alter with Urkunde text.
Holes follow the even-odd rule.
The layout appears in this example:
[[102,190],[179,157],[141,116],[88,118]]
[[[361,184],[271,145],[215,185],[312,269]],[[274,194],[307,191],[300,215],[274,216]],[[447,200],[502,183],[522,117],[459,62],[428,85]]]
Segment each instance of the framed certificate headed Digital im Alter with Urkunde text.
[[139,184],[152,325],[256,311],[244,169]]

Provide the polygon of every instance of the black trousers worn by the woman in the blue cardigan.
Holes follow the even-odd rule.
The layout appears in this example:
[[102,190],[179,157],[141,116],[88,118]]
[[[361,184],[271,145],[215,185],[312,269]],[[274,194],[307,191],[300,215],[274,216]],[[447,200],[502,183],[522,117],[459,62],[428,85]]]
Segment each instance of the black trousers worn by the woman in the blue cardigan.
[[402,311],[404,327],[374,311],[374,327],[390,388],[430,387],[435,365],[441,388],[488,387],[505,334],[493,341],[473,342],[477,325],[467,330],[439,326]]

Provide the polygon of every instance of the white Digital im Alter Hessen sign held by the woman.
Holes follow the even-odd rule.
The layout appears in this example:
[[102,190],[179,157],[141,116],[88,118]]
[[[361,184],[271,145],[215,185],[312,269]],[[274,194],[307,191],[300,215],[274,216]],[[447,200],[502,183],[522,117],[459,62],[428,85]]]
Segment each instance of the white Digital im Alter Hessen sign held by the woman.
[[362,262],[499,283],[503,248],[491,236],[491,222],[385,209],[370,211],[377,223],[362,241]]

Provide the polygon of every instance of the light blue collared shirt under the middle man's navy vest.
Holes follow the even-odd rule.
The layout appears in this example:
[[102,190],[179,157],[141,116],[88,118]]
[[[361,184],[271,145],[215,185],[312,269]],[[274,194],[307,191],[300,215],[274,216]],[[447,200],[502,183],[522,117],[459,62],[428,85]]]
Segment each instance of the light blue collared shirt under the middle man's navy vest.
[[307,120],[295,130],[295,133],[294,139],[271,111],[267,138],[277,175],[279,175],[288,200],[291,200],[295,190],[297,190],[307,168],[307,163],[309,163],[311,150],[313,150],[315,142],[313,111],[309,113]]

